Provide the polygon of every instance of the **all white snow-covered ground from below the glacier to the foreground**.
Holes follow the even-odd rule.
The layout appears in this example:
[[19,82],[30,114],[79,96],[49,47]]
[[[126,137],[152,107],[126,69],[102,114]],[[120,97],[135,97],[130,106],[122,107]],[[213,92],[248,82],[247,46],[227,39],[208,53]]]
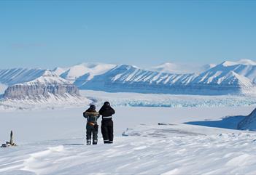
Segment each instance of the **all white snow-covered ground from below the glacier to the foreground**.
[[115,143],[91,146],[86,108],[1,113],[0,141],[12,129],[18,147],[0,149],[0,174],[256,174],[255,132],[185,124],[255,106],[115,107]]

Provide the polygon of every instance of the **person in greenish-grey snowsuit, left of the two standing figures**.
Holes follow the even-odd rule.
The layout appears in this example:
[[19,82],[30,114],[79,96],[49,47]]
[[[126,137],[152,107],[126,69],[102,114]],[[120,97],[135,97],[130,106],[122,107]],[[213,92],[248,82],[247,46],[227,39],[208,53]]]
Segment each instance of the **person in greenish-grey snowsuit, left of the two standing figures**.
[[98,142],[98,124],[97,120],[100,117],[96,112],[95,105],[90,105],[89,109],[83,113],[83,116],[87,118],[86,124],[86,141],[87,145],[90,145],[91,135],[93,134],[93,145],[97,145]]

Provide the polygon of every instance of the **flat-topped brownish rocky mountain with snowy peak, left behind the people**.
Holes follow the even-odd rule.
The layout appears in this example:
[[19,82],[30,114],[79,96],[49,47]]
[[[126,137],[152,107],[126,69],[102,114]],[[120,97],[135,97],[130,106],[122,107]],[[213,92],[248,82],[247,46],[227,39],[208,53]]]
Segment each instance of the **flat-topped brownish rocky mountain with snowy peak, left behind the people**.
[[4,92],[4,98],[30,99],[36,97],[50,97],[50,95],[61,96],[65,94],[79,96],[79,89],[77,89],[77,86],[70,84],[69,81],[47,70],[34,81],[9,86]]

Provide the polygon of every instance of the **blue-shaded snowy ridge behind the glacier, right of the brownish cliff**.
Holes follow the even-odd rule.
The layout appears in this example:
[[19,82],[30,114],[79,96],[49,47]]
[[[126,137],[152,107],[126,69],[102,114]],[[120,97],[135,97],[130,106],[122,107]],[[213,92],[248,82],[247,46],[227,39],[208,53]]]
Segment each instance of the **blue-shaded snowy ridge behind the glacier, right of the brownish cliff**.
[[222,62],[203,73],[177,74],[118,65],[90,81],[75,81],[79,89],[166,94],[255,93],[256,65],[252,60]]

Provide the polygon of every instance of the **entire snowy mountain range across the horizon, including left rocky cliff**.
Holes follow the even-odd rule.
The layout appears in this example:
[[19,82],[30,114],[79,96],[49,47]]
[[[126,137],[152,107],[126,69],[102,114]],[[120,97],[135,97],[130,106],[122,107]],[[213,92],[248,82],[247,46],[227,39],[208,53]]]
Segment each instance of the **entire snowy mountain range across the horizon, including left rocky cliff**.
[[49,93],[79,95],[78,89],[152,94],[256,93],[256,62],[252,60],[206,65],[201,73],[168,73],[177,68],[171,63],[157,66],[155,71],[101,63],[54,70],[13,68],[0,70],[0,84],[9,86],[4,97],[12,98],[46,97]]

